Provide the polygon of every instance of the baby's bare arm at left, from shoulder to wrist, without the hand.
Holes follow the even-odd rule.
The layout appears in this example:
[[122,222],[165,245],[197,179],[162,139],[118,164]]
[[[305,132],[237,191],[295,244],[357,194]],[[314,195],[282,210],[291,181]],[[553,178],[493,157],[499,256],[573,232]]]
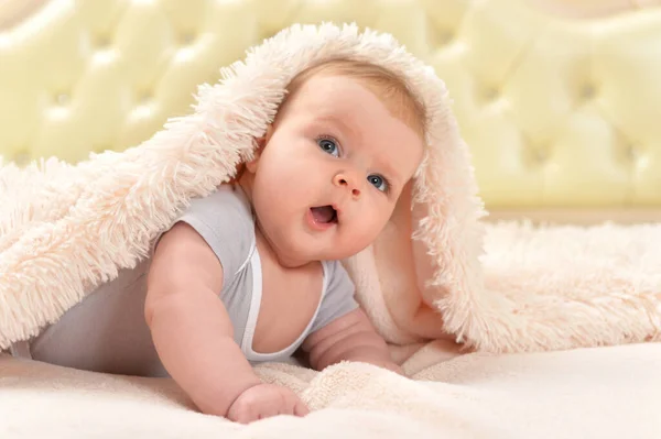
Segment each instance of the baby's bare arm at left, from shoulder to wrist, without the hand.
[[144,306],[163,365],[197,407],[226,416],[232,402],[260,384],[232,339],[218,292],[223,267],[204,239],[180,222],[152,257]]

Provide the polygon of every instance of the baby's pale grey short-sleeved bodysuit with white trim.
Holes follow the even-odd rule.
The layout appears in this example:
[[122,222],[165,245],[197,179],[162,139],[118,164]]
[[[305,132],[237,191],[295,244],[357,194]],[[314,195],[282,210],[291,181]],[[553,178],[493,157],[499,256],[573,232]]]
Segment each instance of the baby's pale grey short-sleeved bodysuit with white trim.
[[[305,330],[279,352],[254,352],[262,283],[248,199],[240,188],[224,185],[193,200],[175,222],[180,221],[194,228],[220,261],[226,274],[218,297],[232,322],[235,341],[252,364],[291,361],[305,337],[358,307],[345,270],[337,261],[324,261],[319,305]],[[97,288],[31,341],[31,358],[86,371],[169,376],[144,321],[148,270],[149,260]]]

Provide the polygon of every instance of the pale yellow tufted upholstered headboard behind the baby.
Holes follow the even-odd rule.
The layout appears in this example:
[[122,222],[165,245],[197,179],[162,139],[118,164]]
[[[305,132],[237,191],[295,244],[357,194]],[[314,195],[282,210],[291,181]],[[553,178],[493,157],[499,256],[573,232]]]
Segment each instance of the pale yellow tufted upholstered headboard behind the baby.
[[489,209],[661,206],[661,8],[570,18],[538,3],[0,0],[0,155],[136,145],[263,37],[356,21],[447,83]]

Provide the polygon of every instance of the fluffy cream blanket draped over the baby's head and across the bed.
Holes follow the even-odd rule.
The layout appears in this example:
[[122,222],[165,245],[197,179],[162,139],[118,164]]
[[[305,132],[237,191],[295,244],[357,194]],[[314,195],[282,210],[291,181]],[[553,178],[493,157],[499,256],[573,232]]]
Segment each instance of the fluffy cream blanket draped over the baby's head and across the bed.
[[[323,24],[294,25],[253,47],[218,84],[199,87],[189,116],[136,147],[75,165],[50,158],[0,167],[0,348],[37,334],[120,268],[136,266],[191,199],[252,157],[289,81],[334,58],[392,70],[429,117],[423,162],[391,221],[344,261],[389,343],[449,334],[470,349],[513,352],[657,337],[658,251],[629,270],[631,257],[613,251],[614,239],[631,238],[619,229],[486,226],[468,149],[434,69],[388,34]],[[646,240],[661,238],[658,228],[646,230]],[[600,249],[587,233],[609,238]],[[576,242],[587,240],[599,257],[582,259]],[[578,260],[567,259],[563,243]]]

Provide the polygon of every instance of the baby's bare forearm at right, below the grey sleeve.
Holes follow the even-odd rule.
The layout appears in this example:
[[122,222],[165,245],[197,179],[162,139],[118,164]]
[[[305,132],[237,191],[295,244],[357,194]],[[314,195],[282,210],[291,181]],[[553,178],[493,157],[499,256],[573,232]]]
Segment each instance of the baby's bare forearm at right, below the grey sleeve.
[[310,334],[302,349],[317,371],[346,360],[375,364],[402,374],[401,367],[390,359],[386,341],[360,308]]

